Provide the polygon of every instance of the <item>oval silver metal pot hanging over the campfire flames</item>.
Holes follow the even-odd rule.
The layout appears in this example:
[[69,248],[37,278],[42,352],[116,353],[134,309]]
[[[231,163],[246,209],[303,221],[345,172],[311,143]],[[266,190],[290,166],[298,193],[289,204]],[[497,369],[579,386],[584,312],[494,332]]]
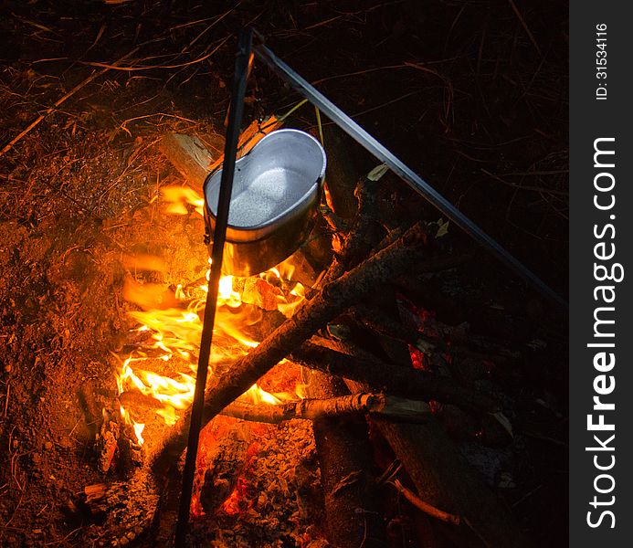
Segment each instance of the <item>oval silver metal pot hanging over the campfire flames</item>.
[[[252,276],[290,257],[311,232],[321,200],[325,151],[309,133],[270,132],[236,162],[222,269]],[[205,220],[213,238],[221,167],[205,181]]]

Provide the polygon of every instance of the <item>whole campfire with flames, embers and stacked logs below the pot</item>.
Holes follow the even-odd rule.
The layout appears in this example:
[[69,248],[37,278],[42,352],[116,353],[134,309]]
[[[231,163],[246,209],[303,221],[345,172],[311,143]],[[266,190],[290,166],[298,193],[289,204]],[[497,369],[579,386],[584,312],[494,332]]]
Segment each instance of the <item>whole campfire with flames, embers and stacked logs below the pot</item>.
[[[253,122],[243,153],[279,126]],[[190,145],[173,135],[162,145],[189,181],[200,167],[183,162]],[[360,177],[345,198],[357,202],[349,218],[337,215],[341,195],[325,193],[308,241],[332,249],[329,264],[308,245],[257,275],[219,280],[187,543],[379,546],[394,534],[385,515],[402,499],[459,542],[527,545],[443,430],[458,420],[479,428],[473,436],[512,438],[498,395],[467,382],[485,374],[488,355],[403,293],[391,292],[395,313],[373,304],[389,282],[406,287],[412,273],[470,259],[441,252],[441,219],[381,227],[386,172],[379,165]],[[202,225],[201,186],[167,184],[158,199],[160,215]],[[186,258],[182,279],[160,254],[121,255],[131,329],[111,351],[116,391],[100,411],[95,450],[106,481],[69,507],[100,523],[85,537],[100,545],[166,545],[174,532],[212,264],[199,244],[174,244]],[[389,343],[381,350],[368,337]]]

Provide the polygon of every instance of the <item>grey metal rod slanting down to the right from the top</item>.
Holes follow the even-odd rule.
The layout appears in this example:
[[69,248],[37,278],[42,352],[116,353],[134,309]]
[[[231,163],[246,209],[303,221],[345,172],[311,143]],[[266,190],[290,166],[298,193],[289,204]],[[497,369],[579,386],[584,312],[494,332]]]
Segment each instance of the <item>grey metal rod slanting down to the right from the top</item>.
[[422,177],[408,167],[404,162],[396,157],[394,153],[385,148],[383,144],[353,121],[347,114],[339,109],[331,100],[327,99],[321,92],[316,90],[308,81],[302,79],[292,68],[278,58],[268,47],[258,45],[254,48],[258,59],[272,68],[281,79],[284,79],[294,90],[299,91],[303,97],[316,105],[330,120],[346,132],[354,141],[360,143],[366,151],[375,155],[384,162],[396,175],[402,178],[419,195],[422,195],[432,205],[460,227],[469,237],[472,237],[484,248],[488,248],[494,256],[519,274],[523,279],[530,282],[536,290],[544,296],[556,301],[558,304],[568,307],[567,302],[554,290],[552,290],[542,279],[532,270],[528,269],[518,259],[514,258],[509,251],[501,247],[501,244],[488,236],[479,226],[473,223],[469,217],[459,211],[455,205],[438,193]]

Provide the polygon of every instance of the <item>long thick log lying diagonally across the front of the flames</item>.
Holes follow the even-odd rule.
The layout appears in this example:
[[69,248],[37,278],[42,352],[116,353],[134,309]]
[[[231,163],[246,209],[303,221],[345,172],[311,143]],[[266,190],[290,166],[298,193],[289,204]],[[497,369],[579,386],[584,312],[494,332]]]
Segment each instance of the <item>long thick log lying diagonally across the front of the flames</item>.
[[[412,227],[394,244],[323,287],[320,294],[304,302],[289,320],[233,364],[226,374],[214,377],[215,384],[206,389],[203,426],[328,321],[379,284],[411,268],[411,248],[421,246],[423,240],[421,224]],[[157,446],[150,461],[157,475],[164,476],[185,450],[190,419],[191,408]]]

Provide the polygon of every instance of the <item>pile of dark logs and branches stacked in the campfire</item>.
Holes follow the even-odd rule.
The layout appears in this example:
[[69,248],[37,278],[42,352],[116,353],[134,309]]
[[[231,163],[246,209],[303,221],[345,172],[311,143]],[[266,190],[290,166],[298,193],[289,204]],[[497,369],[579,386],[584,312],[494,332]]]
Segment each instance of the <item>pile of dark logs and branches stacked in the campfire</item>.
[[[187,147],[164,150],[172,157],[188,153]],[[195,177],[195,170],[181,171],[186,178]],[[255,440],[266,437],[280,443],[284,437],[278,431],[281,428],[307,444],[301,451],[310,453],[307,461],[311,465],[304,467],[310,471],[304,474],[307,478],[300,479],[294,469],[292,487],[301,498],[301,490],[313,491],[315,485],[321,485],[327,522],[322,531],[333,545],[387,543],[385,509],[379,503],[385,490],[402,496],[424,514],[424,520],[438,522],[436,527],[448,530],[459,544],[529,545],[512,512],[485,485],[480,472],[467,462],[446,431],[460,423],[461,436],[480,428],[487,431],[486,436],[501,439],[501,445],[512,441],[512,425],[504,415],[499,386],[489,384],[481,389],[478,384],[486,377],[482,364],[496,360],[497,355],[501,361],[512,356],[503,357],[500,342],[469,342],[463,328],[459,332],[428,313],[420,314],[396,290],[415,283],[420,274],[437,276],[455,269],[471,256],[454,256],[442,248],[440,238],[446,230],[442,223],[417,221],[406,227],[381,222],[381,208],[388,206],[379,198],[385,171],[378,166],[360,177],[346,196],[358,203],[350,218],[337,214],[342,207],[335,200],[323,205],[314,239],[322,245],[326,237],[332,237],[336,249],[329,267],[289,318],[266,311],[271,308],[264,304],[269,284],[255,284],[262,297],[251,295],[251,300],[268,315],[262,328],[267,332],[258,346],[217,369],[206,388],[203,426],[215,433],[202,449],[205,469],[195,502],[204,515],[215,515],[216,521],[213,533],[208,524],[203,529],[194,527],[192,543],[203,542],[209,534],[220,544],[236,543],[237,538],[248,542],[235,527],[230,527],[233,541],[228,540],[226,523],[239,513],[262,516],[266,511],[270,491],[258,492],[257,480],[253,480],[260,473],[257,463],[263,462],[256,457],[262,449]],[[353,185],[347,186],[352,190]],[[338,199],[341,195],[339,189]],[[237,280],[235,285],[242,289],[252,286],[248,280]],[[396,314],[385,311],[389,300]],[[382,348],[380,344],[367,346],[370,339],[387,343]],[[275,405],[237,399],[282,360],[301,366],[304,399]],[[125,406],[159,403],[133,390],[122,393],[119,401]],[[130,427],[120,426],[104,412],[101,467],[109,469],[116,450],[117,466],[127,470],[130,487],[126,483],[86,487],[79,504],[94,515],[105,516],[102,527],[107,534],[100,531],[100,544],[124,545],[139,534],[145,542],[170,542],[180,487],[177,463],[186,448],[189,413],[185,409],[174,426],[164,428],[145,455],[134,443]],[[237,423],[229,417],[238,419]],[[255,425],[245,426],[249,423]],[[391,458],[385,469],[375,465],[376,439],[383,445],[382,458]],[[283,481],[287,484],[288,479]],[[282,490],[290,493],[287,485]],[[312,524],[306,519],[314,518],[313,512],[304,511],[298,517],[296,501],[286,500],[285,504],[289,511],[295,509],[288,519],[309,531]],[[138,511],[130,511],[131,507],[142,508],[142,517]],[[320,535],[313,537],[308,533],[294,541],[318,545]]]

